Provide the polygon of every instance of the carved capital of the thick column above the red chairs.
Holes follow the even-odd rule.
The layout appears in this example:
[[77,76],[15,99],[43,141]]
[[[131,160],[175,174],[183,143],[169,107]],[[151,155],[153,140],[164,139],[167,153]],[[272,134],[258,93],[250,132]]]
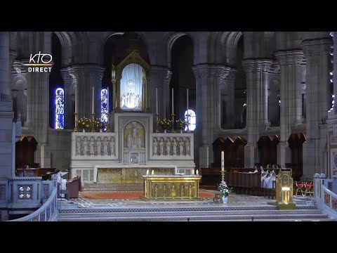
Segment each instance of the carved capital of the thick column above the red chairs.
[[300,44],[303,48],[305,57],[327,55],[331,52],[331,46],[333,40],[331,38],[326,39],[314,39],[304,40]]

